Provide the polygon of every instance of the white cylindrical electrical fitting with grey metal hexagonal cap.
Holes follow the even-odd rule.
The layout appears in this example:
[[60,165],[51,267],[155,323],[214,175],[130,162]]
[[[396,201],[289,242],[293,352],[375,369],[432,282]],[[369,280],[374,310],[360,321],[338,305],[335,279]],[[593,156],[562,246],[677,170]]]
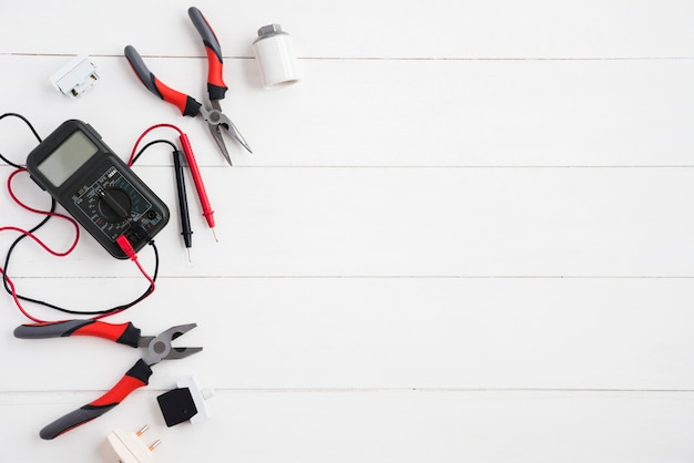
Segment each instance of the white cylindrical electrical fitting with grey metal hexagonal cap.
[[258,29],[258,38],[253,42],[253,50],[265,89],[277,89],[298,82],[292,35],[283,31],[279,24]]

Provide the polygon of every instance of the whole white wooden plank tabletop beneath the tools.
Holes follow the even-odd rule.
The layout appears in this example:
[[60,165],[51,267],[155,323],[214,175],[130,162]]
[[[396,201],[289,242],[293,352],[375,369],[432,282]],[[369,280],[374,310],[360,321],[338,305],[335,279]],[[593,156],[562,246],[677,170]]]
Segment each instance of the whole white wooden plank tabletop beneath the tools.
[[[123,56],[135,45],[202,97],[187,2],[0,0],[0,113],[42,136],[81,119],[123,157],[147,126],[180,125],[220,238],[188,183],[186,263],[170,151],[147,152],[134,168],[172,209],[157,289],[110,320],[195,321],[180,341],[204,351],[54,441],[39,430],[137,354],[16,339],[28,320],[3,294],[0,461],[108,461],[106,435],[143,424],[167,463],[694,460],[694,2],[196,6],[224,51],[223,107],[255,151],[227,142],[234,167]],[[251,43],[273,22],[303,80],[266,91]],[[70,100],[49,76],[78,53],[102,80]],[[0,153],[22,163],[34,145],[0,121]],[[25,176],[17,188],[48,204]],[[0,226],[35,223],[1,194]],[[71,236],[55,220],[40,234]],[[2,255],[16,237],[0,234]],[[11,270],[20,291],[84,310],[146,286],[86,234],[67,258],[24,243]],[[215,389],[214,416],[166,428],[155,398],[191,374]]]

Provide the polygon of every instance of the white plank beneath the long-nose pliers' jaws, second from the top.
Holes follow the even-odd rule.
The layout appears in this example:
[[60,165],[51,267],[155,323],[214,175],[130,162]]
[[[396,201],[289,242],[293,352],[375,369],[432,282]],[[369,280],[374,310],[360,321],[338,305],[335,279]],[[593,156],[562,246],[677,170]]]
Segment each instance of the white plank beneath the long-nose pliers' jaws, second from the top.
[[[224,165],[205,125],[146,92],[124,58],[96,58],[102,83],[78,101],[48,82],[64,61],[0,55],[10,70],[0,88],[3,112],[24,114],[43,136],[65,119],[82,119],[123,157],[146,127],[174,123],[190,134],[201,164]],[[147,62],[169,85],[202,97],[202,60]],[[237,166],[691,165],[694,60],[302,66],[300,84],[268,92],[252,60],[229,60],[224,107],[255,153],[227,141]],[[18,162],[35,144],[14,122],[0,122],[0,152]],[[147,140],[175,135],[162,130]],[[171,165],[171,155],[162,150],[141,164]]]

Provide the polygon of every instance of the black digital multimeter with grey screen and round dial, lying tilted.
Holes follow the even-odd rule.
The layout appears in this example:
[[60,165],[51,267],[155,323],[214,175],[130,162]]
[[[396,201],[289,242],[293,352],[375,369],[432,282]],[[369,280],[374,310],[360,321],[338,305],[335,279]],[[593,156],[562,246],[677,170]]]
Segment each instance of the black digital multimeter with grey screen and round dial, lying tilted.
[[137,251],[169,222],[166,205],[81,121],[63,122],[29,153],[27,169],[119,259],[127,257],[119,236]]

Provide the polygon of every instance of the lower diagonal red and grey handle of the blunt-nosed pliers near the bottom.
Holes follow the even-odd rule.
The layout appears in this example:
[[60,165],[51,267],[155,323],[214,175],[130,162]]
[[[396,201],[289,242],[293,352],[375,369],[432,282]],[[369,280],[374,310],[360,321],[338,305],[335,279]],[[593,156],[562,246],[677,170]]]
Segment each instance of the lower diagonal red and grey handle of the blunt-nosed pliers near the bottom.
[[93,402],[90,402],[86,405],[53,421],[43,428],[39,432],[39,435],[41,439],[52,440],[70,430],[101,416],[121,403],[135,389],[147,385],[151,375],[152,369],[150,366],[147,366],[142,359],[137,360],[137,362],[135,362],[135,364],[127,370],[125,375],[109,392]]

